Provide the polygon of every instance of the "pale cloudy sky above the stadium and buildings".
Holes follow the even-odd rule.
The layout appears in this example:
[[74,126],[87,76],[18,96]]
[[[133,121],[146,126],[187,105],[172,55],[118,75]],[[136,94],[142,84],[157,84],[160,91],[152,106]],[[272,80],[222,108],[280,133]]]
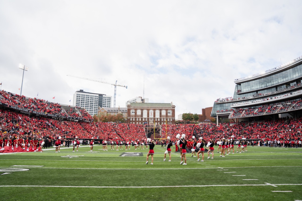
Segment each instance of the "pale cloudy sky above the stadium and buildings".
[[[62,104],[75,91],[201,114],[234,79],[302,56],[302,1],[0,0],[2,90]],[[281,61],[280,61],[281,59]]]

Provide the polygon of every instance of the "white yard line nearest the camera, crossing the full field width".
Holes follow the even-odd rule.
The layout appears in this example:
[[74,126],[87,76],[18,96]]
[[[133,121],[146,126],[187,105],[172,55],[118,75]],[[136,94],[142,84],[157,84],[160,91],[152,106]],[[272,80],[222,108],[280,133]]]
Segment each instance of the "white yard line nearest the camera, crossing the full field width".
[[[276,184],[277,185],[277,184]],[[279,185],[279,184],[278,184]],[[282,184],[282,185],[302,185],[302,184]],[[218,186],[270,186],[268,184],[226,184],[226,185],[196,185],[196,186],[0,186],[0,187],[66,187],[66,188],[174,188],[174,187],[218,187]]]

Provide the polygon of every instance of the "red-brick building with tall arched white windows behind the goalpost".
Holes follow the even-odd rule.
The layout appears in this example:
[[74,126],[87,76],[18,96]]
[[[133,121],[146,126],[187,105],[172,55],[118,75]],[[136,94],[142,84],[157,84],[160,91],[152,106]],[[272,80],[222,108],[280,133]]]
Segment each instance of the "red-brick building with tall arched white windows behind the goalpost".
[[149,125],[174,124],[175,105],[173,103],[128,103],[127,123]]

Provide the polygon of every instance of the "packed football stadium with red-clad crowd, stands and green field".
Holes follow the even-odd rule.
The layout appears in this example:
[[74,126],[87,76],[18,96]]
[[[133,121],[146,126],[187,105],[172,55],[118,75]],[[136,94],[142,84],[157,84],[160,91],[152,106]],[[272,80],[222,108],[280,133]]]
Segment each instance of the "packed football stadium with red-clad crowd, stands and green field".
[[301,79],[302,57],[236,79],[199,124],[95,122],[2,90],[1,200],[301,200]]

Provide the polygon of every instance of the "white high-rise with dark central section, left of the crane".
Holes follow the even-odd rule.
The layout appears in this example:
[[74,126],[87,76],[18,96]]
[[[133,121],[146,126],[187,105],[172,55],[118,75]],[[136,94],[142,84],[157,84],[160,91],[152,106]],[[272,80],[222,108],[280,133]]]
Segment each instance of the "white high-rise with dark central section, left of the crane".
[[98,115],[98,107],[111,107],[111,103],[112,96],[90,93],[82,89],[73,95],[73,105],[85,107],[91,116]]

